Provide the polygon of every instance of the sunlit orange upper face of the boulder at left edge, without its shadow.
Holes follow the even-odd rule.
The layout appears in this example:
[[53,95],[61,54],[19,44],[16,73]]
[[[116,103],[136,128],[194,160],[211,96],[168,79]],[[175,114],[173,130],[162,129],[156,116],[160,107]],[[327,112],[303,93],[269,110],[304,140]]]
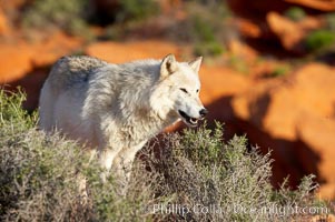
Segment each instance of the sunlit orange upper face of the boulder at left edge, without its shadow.
[[62,32],[51,34],[42,42],[28,43],[17,40],[0,43],[0,83],[23,78],[33,69],[50,67],[62,56],[71,54],[82,41]]

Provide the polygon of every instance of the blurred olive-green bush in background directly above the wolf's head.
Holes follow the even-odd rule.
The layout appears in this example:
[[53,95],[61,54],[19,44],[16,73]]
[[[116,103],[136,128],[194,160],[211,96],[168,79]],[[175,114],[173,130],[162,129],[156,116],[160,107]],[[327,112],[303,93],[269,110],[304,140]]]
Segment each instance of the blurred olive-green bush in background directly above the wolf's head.
[[196,56],[216,58],[223,54],[234,32],[233,27],[228,28],[230,11],[226,2],[187,1],[185,9],[187,17],[170,27],[169,38],[193,44]]

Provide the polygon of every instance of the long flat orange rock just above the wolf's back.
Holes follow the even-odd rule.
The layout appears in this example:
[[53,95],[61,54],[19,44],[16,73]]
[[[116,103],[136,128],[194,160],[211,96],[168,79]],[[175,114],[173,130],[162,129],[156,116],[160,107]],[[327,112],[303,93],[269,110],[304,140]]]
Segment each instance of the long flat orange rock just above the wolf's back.
[[135,42],[97,42],[90,44],[85,52],[88,56],[108,62],[122,63],[138,59],[161,59],[168,53],[179,54],[179,49],[169,42],[147,40]]

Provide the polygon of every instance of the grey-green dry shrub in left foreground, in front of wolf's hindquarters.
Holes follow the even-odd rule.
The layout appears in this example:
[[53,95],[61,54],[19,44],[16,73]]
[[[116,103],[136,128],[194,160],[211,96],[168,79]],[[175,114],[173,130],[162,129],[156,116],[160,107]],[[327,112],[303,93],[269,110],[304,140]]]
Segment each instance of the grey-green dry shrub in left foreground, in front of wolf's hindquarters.
[[[136,196],[118,196],[112,178],[102,183],[100,168],[76,142],[36,129],[22,100],[22,93],[0,91],[0,221],[139,220],[139,204],[155,201],[145,192],[145,175]],[[82,178],[88,200],[79,191]]]

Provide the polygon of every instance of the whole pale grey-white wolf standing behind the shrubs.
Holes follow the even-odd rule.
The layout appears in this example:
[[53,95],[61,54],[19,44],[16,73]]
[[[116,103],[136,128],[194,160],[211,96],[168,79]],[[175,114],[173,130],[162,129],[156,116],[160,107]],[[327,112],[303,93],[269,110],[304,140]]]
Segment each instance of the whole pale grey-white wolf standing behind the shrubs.
[[179,120],[196,127],[206,115],[200,63],[177,62],[173,54],[124,64],[61,58],[41,90],[39,125],[86,144],[105,169],[128,175],[122,169],[149,139]]

